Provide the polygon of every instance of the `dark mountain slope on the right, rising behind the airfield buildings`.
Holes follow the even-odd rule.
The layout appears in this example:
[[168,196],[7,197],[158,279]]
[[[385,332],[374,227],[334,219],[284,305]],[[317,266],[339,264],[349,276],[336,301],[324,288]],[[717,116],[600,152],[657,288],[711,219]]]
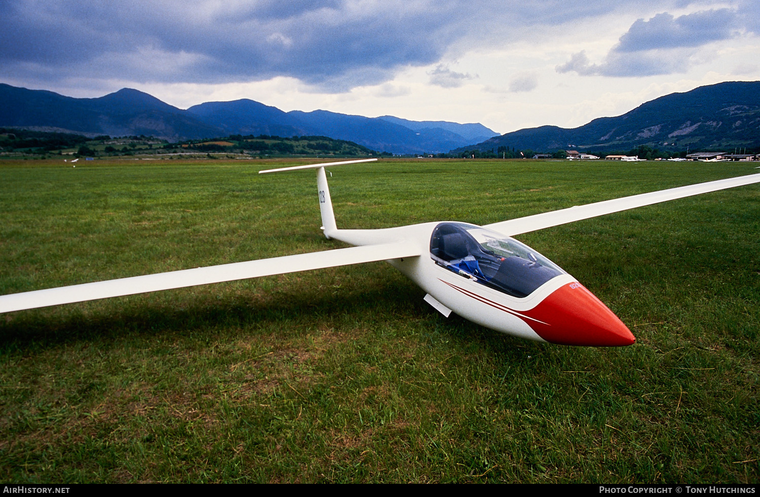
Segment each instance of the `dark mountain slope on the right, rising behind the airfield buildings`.
[[609,152],[640,145],[665,150],[760,146],[760,81],[729,81],[671,93],[614,118],[572,129],[541,126],[513,131],[456,151],[499,146],[553,152]]

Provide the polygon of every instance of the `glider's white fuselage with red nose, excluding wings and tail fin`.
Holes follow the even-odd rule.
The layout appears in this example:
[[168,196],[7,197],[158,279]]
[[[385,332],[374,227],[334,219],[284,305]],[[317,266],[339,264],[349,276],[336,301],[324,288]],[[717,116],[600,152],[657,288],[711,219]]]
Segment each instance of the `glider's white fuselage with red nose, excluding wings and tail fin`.
[[[491,234],[493,240],[506,239],[529,250],[531,256],[537,256],[537,262],[527,257],[520,258],[515,255],[516,250],[509,250],[509,247],[499,253],[486,248],[486,253],[475,253],[472,256],[470,253],[478,250],[473,246],[473,243],[477,243],[474,239],[468,240],[470,253],[454,254],[464,257],[451,260],[443,253],[436,256],[433,253],[436,248],[432,245],[436,241],[436,230],[442,226],[470,228],[479,233]],[[467,236],[467,231],[462,231],[462,236]],[[454,234],[444,236],[451,237]],[[388,263],[426,291],[425,300],[444,316],[453,311],[489,329],[555,344],[620,346],[635,341],[620,319],[577,279],[553,265],[537,251],[505,235],[466,223],[427,222],[377,230],[326,229],[325,236],[355,246],[393,241],[404,241],[416,246],[422,255],[388,260]],[[511,257],[508,256],[509,253],[512,253]],[[498,267],[491,271],[485,269],[485,263],[489,261],[483,260],[484,258],[495,260]],[[478,259],[480,264],[475,269],[473,266],[478,263]],[[464,263],[460,260],[464,260]],[[516,262],[512,267],[506,267],[510,260]],[[544,267],[541,263],[559,271]],[[549,272],[548,279],[543,275],[536,280],[536,277],[530,275],[531,272]],[[497,279],[503,283],[497,284]],[[536,280],[532,285],[531,279]],[[543,279],[546,281],[543,282]]]

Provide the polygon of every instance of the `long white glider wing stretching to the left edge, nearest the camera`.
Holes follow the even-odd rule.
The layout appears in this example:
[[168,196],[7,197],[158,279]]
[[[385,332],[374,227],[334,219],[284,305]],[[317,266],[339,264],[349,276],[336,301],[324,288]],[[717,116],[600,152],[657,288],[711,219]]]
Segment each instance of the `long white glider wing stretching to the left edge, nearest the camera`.
[[146,291],[233,282],[258,276],[280,275],[287,272],[308,271],[351,264],[372,263],[378,260],[398,259],[420,255],[420,248],[404,242],[349,247],[323,252],[299,253],[293,256],[252,260],[247,263],[223,264],[204,268],[160,272],[154,275],[112,279],[106,282],[85,283],[68,287],[27,291],[21,294],[0,296],[0,313],[36,307],[71,304],[122,295],[141,294]]

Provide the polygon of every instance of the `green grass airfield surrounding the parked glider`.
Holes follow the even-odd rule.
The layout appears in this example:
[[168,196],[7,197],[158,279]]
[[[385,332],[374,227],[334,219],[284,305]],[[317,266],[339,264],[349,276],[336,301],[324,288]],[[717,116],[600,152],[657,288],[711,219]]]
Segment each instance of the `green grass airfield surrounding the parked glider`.
[[[0,294],[341,247],[314,172],[272,164],[0,162]],[[384,228],[756,171],[385,160],[329,181],[340,228]],[[385,263],[8,313],[0,480],[758,483],[758,233],[752,185],[518,236],[627,348],[445,319]]]

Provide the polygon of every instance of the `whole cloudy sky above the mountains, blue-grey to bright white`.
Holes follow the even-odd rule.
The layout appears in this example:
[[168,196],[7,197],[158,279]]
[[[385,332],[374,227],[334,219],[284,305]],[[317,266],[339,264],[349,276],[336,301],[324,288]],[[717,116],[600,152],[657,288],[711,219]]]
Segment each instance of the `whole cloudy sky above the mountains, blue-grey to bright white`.
[[499,133],[760,80],[758,0],[0,0],[0,82]]

